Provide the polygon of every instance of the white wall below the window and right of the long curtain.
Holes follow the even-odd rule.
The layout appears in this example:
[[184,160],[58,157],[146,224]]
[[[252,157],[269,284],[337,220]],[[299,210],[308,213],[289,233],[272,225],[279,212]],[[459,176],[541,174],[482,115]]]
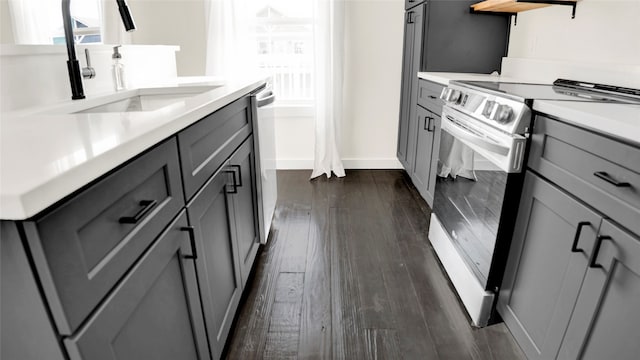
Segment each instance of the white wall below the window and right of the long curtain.
[[[396,158],[404,2],[351,0],[345,9],[345,168],[400,168]],[[313,167],[312,114],[276,112],[278,168]]]

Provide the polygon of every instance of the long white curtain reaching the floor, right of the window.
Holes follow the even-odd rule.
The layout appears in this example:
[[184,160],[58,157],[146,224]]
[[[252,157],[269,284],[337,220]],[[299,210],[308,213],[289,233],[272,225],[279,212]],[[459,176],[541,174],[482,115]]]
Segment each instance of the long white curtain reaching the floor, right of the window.
[[338,144],[342,122],[344,58],[343,0],[314,0],[315,153],[311,178],[345,176]]

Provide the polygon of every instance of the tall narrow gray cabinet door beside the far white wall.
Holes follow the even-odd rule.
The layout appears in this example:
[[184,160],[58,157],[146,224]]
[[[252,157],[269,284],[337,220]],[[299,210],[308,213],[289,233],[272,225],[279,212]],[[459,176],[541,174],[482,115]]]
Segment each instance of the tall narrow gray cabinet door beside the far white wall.
[[422,52],[422,26],[424,20],[424,5],[418,5],[413,10],[410,21],[413,22],[413,51],[411,53],[411,92],[409,97],[409,133],[407,134],[407,164],[409,174],[413,172],[416,155],[416,141],[418,137],[418,71],[420,71],[420,54]]

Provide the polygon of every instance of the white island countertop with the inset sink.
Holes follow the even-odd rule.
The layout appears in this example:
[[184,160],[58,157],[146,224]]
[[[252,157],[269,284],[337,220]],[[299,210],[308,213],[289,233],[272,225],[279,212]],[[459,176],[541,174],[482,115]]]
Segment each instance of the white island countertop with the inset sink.
[[[204,78],[177,83],[221,84]],[[155,111],[68,113],[82,102],[99,101],[87,96],[0,114],[0,219],[36,215],[264,83],[263,77],[225,81],[223,86]],[[125,93],[135,95],[136,91]]]

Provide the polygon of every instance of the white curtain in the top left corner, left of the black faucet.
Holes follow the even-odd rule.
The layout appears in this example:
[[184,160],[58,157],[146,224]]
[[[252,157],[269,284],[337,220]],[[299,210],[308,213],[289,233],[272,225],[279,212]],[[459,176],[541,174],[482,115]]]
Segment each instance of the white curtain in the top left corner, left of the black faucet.
[[62,24],[62,5],[51,0],[9,0],[16,44],[51,44],[51,35]]

